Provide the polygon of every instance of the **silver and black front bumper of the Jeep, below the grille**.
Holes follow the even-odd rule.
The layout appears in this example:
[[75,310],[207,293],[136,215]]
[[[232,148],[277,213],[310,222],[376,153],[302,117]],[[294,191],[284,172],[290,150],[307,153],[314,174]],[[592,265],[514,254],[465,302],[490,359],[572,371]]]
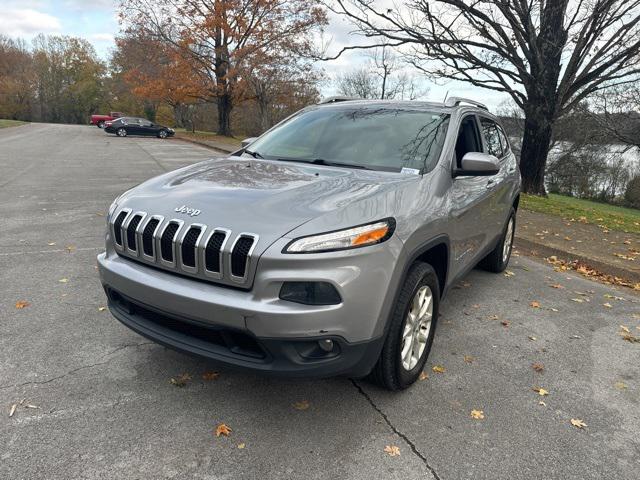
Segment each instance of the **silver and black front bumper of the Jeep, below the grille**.
[[[259,260],[264,268],[250,291],[167,273],[110,249],[98,256],[98,268],[112,314],[167,347],[267,373],[357,377],[371,371],[384,341],[391,273],[377,265],[378,275],[371,275],[370,267],[381,258],[395,263],[396,249],[387,247],[371,247],[379,250],[373,257],[360,251],[348,261],[334,254],[338,258],[318,262],[310,256],[279,260],[282,246],[276,245]],[[283,280],[309,279],[330,281],[343,303],[309,306],[278,298]],[[334,350],[319,348],[324,339]]]

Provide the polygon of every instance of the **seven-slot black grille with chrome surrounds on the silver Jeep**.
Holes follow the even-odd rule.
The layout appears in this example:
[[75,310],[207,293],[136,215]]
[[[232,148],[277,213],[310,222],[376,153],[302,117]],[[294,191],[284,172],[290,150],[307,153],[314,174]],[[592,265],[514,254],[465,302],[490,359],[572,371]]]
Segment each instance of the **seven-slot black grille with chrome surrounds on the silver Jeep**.
[[182,275],[238,286],[250,283],[256,234],[131,209],[112,215],[109,227],[121,256]]

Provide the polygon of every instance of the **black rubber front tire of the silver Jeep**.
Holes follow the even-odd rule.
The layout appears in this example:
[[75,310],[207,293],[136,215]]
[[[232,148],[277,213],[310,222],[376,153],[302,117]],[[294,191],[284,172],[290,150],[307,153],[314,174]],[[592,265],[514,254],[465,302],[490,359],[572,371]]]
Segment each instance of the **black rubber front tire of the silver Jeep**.
[[[431,317],[428,329],[422,325],[423,322],[420,322],[420,317],[413,322],[411,320],[411,317],[415,318],[415,316],[411,315],[412,311],[418,310],[416,307],[420,305],[420,294],[425,291],[431,294]],[[416,301],[418,302],[417,304]],[[439,306],[440,285],[435,270],[427,263],[415,263],[409,270],[407,278],[401,287],[398,300],[389,319],[390,325],[387,338],[380,352],[380,357],[369,375],[373,382],[388,390],[403,390],[418,379],[431,351],[438,321]],[[411,326],[412,323],[413,327]],[[417,328],[416,325],[418,325]],[[412,330],[413,335],[411,335]],[[416,355],[412,354],[416,353],[415,348],[409,347],[412,353],[408,356],[403,356],[405,351],[403,347],[407,347],[407,332],[413,339],[415,339],[415,335],[423,339],[423,341],[419,340],[419,343],[424,343],[424,346],[420,347],[418,345]],[[420,352],[420,349],[422,352]]]

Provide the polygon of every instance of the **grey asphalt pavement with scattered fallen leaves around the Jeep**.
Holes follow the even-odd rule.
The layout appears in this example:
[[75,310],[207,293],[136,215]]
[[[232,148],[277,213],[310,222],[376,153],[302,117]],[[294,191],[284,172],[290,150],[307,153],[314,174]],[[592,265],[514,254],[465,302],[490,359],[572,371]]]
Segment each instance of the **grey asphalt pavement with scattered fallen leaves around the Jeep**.
[[640,337],[640,296],[525,257],[451,291],[428,378],[401,393],[225,371],[119,324],[95,270],[105,211],[215,155],[0,130],[0,478],[638,478],[640,343],[620,333]]

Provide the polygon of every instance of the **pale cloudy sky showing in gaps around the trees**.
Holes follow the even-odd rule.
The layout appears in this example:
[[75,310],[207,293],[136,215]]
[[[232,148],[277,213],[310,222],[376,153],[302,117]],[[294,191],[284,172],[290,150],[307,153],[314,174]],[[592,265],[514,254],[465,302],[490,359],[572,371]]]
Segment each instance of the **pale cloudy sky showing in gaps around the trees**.
[[[379,1],[384,4],[387,0]],[[78,36],[89,40],[100,57],[107,59],[119,28],[115,5],[115,0],[0,0],[0,33],[27,41],[39,33]],[[359,40],[351,34],[352,27],[347,22],[335,16],[330,20],[325,33],[325,40],[330,40],[330,51]],[[365,61],[363,54],[350,53],[335,61],[322,62],[319,67],[333,77]],[[448,92],[449,96],[483,101],[494,111],[507,98],[498,92],[458,82],[436,85],[422,80],[421,86],[428,90],[426,99],[441,101]],[[335,94],[331,82],[323,86],[322,93]]]

